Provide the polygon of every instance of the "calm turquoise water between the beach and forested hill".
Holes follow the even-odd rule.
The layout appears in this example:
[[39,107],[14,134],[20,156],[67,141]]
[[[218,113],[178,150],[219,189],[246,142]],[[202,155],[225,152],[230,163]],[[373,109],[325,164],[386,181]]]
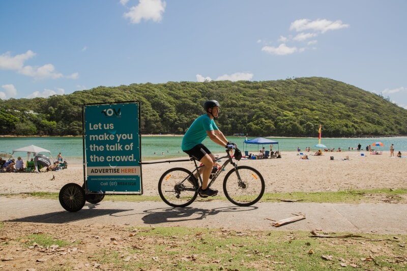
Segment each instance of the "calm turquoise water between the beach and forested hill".
[[[247,149],[249,152],[257,151],[257,148],[261,148],[261,145],[244,145],[244,137],[227,137],[230,141],[234,141],[238,144],[241,150]],[[249,137],[248,139],[253,139]],[[274,150],[280,149],[282,152],[296,151],[297,146],[305,150],[305,147],[313,147],[318,143],[317,138],[270,138],[278,141],[278,146],[274,146]],[[141,157],[143,160],[162,159],[168,157],[185,157],[185,154],[181,150],[180,136],[142,136],[141,138]],[[407,137],[384,137],[384,138],[322,138],[321,143],[329,148],[341,147],[343,150],[347,150],[348,147],[354,147],[360,143],[362,148],[374,142],[382,142],[383,147],[373,147],[374,149],[389,151],[391,143],[394,144],[396,152],[399,150],[404,155],[407,152]],[[213,143],[210,139],[204,141],[209,149],[214,153],[222,153],[224,148]],[[13,149],[25,147],[28,145],[36,145],[51,151],[52,157],[55,158],[58,153],[67,159],[82,160],[82,138],[81,137],[3,137],[0,138],[0,152],[12,153]],[[269,149],[269,145],[264,145],[266,149]],[[246,148],[247,147],[247,148]],[[156,153],[156,154],[154,154]],[[164,155],[162,155],[164,153]],[[16,153],[14,156],[22,156],[22,153]]]

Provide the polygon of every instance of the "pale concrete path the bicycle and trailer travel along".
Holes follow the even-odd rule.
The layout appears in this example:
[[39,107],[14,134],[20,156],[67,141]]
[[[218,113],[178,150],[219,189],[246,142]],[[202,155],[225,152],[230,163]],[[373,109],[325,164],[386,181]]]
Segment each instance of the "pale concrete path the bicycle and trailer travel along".
[[[299,213],[306,219],[272,226],[271,220]],[[101,201],[69,213],[57,200],[0,196],[0,221],[407,234],[407,204],[273,202],[239,207],[227,201],[195,201],[172,208],[164,202]]]

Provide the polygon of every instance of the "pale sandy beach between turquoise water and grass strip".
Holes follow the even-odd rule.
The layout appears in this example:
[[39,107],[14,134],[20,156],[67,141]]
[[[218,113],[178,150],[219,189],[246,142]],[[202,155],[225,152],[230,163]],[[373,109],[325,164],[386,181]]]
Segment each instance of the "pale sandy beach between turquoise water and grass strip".
[[[307,154],[307,153],[304,153]],[[266,192],[321,192],[344,189],[406,188],[407,159],[364,152],[324,153],[300,159],[297,152],[282,153],[281,159],[244,160],[239,165],[256,168],[265,178]],[[331,160],[330,157],[334,159]],[[344,160],[348,156],[350,160]],[[174,159],[176,160],[176,159]],[[69,162],[69,161],[68,161]],[[149,161],[150,162],[150,161]],[[143,195],[158,195],[161,174],[172,167],[192,169],[192,162],[142,165]],[[224,176],[231,166],[220,176]],[[67,169],[41,173],[0,173],[0,194],[59,192],[67,183],[83,184],[83,167],[71,162]],[[51,180],[55,176],[54,180]],[[218,179],[214,188],[222,190]]]

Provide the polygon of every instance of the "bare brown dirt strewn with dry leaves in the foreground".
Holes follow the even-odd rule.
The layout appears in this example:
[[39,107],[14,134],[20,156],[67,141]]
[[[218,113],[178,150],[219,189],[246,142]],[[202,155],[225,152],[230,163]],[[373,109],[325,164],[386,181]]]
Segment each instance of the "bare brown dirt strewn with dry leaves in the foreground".
[[[127,267],[129,270],[160,270],[159,263],[170,263],[174,266],[173,270],[177,269],[179,261],[199,262],[199,255],[191,255],[187,250],[188,242],[191,239],[196,239],[199,236],[168,236],[162,237],[155,234],[142,236],[141,232],[148,233],[154,230],[151,228],[137,229],[131,226],[112,226],[112,225],[57,225],[57,224],[35,224],[35,223],[14,223],[5,222],[0,228],[0,270],[123,270],[123,263],[141,263],[147,262],[149,267]],[[47,247],[33,243],[35,235],[51,236],[56,240],[64,240],[65,246],[48,245]],[[264,238],[265,232],[244,230],[239,233],[231,233],[227,229],[214,230],[215,235],[238,236],[256,236]],[[295,233],[287,232],[287,242],[295,239]],[[400,256],[400,253],[395,251],[404,250],[405,236],[391,237],[401,238],[402,242],[368,242],[353,239],[321,239],[327,246],[352,246],[357,244],[361,246],[365,255],[365,259],[339,259],[341,266],[361,268],[361,264],[352,262],[367,262],[375,261],[375,258],[386,257],[386,262],[391,262],[404,268],[407,266],[407,256]],[[304,241],[305,242],[305,241]],[[159,259],[156,256],[156,246],[164,246],[171,250],[176,248],[181,252],[181,255],[174,257],[173,254],[160,255]],[[133,251],[133,252],[130,252]],[[135,252],[134,252],[135,251]],[[310,253],[310,252],[308,252]],[[109,255],[109,256],[107,256]],[[117,262],[104,260],[104,256],[111,257],[115,255]],[[272,255],[261,255],[261,260],[258,261],[258,269],[274,269],[274,265],[284,269],[284,262],[273,261]],[[330,256],[329,256],[330,257]],[[210,259],[209,259],[210,260]],[[211,260],[218,262],[218,260]],[[347,262],[347,264],[346,264]],[[338,264],[336,262],[335,264]],[[129,265],[132,266],[132,265]],[[205,265],[204,265],[205,266]],[[246,266],[247,267],[247,266]],[[286,266],[288,267],[288,266]],[[337,266],[339,268],[339,265]],[[219,267],[223,270],[223,267]],[[224,268],[228,270],[228,268]],[[289,269],[289,268],[288,268]],[[401,270],[400,269],[400,270]],[[365,269],[371,270],[371,269]],[[376,269],[375,269],[376,270]],[[379,269],[377,269],[379,270]],[[385,270],[393,270],[392,268]]]

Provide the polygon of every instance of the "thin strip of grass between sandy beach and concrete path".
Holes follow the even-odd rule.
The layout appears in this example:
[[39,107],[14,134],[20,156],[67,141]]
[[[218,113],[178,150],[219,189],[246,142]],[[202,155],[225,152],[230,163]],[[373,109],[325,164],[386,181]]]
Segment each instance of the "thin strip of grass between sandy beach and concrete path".
[[[406,195],[407,189],[348,189],[336,192],[290,192],[290,193],[265,193],[261,202],[278,202],[281,200],[293,200],[301,202],[317,202],[317,203],[360,203],[360,202],[377,202],[381,199],[391,198],[400,200],[400,196]],[[7,194],[2,194],[7,196]],[[58,199],[58,193],[48,192],[33,192],[24,194],[27,196],[42,198],[42,199]],[[103,200],[108,201],[161,201],[159,196],[143,196],[143,195],[106,195]],[[199,198],[198,198],[199,200]],[[216,196],[211,200],[227,200],[225,197]]]

